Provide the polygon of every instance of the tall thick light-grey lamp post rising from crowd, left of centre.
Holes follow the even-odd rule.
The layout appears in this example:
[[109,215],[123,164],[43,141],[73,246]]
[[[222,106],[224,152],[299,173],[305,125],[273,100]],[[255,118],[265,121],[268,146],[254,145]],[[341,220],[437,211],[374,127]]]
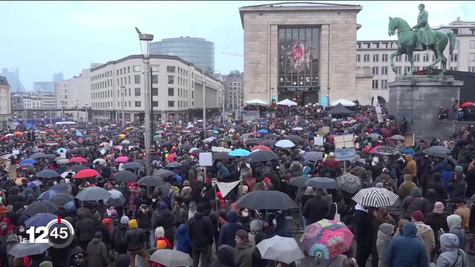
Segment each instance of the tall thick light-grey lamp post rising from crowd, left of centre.
[[[150,86],[148,83],[150,82],[150,42],[153,40],[153,35],[152,34],[142,34],[140,30],[135,27],[135,30],[139,34],[139,40],[140,40],[140,48],[142,50],[142,56],[143,56],[143,63],[145,65],[145,81],[144,81],[144,88],[145,88],[145,114],[144,114],[144,125],[145,125],[145,167],[146,167],[146,174],[150,175],[151,172],[151,154],[150,154],[150,139],[151,139],[151,133],[150,133],[150,107],[152,105],[150,101]],[[150,83],[151,85],[151,83]]]

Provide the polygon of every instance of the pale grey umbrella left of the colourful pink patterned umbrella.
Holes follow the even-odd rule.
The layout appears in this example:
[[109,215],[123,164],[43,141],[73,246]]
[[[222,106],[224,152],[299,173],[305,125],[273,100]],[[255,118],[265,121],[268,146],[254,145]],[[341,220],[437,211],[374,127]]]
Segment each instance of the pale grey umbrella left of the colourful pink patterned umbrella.
[[297,241],[291,237],[275,235],[272,238],[262,240],[256,247],[259,249],[262,259],[291,264],[298,259],[305,258],[298,247]]

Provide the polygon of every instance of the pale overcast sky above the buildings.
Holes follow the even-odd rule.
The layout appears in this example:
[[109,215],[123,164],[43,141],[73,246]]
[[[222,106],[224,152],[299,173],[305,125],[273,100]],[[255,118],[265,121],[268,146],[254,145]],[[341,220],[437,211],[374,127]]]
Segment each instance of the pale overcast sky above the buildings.
[[[155,40],[200,37],[215,43],[215,66],[221,73],[241,70],[243,31],[238,8],[275,1],[1,1],[0,68],[19,67],[27,89],[33,82],[79,75],[91,62],[105,63],[140,53],[134,27]],[[319,1],[363,5],[358,40],[396,40],[387,36],[388,16],[413,26],[416,1]],[[432,27],[460,16],[475,20],[474,1],[422,1]]]

